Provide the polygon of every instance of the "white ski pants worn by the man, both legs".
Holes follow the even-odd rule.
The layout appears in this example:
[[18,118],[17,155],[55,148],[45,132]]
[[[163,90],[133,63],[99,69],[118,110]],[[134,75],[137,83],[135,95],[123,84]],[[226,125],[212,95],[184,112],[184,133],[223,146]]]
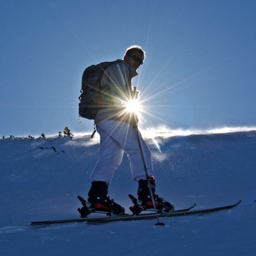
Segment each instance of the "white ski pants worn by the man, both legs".
[[[135,129],[137,128],[130,124],[116,120],[106,120],[97,124],[97,131],[100,134],[99,160],[92,171],[91,181],[105,181],[110,185],[114,171],[122,162],[124,152],[130,161],[133,180],[146,178]],[[148,176],[151,176],[154,173],[151,153],[139,131],[138,133]]]

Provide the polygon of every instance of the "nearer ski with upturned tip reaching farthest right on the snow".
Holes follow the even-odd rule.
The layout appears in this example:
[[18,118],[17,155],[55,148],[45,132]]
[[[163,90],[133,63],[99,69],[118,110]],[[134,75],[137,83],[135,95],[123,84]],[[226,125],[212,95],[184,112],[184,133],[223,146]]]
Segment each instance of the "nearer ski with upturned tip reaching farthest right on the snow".
[[[177,216],[186,216],[186,215],[196,215],[196,214],[202,214],[202,213],[209,213],[209,212],[216,212],[220,210],[225,209],[231,209],[235,207],[236,205],[240,204],[241,200],[239,200],[236,204],[230,204],[226,206],[221,207],[213,207],[213,208],[207,208],[207,209],[201,209],[201,210],[194,210],[194,211],[179,211],[179,212],[169,212],[169,213],[159,213],[158,217],[177,217]],[[120,216],[116,218],[105,218],[105,219],[87,219],[86,223],[88,224],[100,224],[100,223],[106,223],[106,222],[113,222],[113,221],[130,221],[130,220],[149,220],[149,219],[155,219],[156,214],[149,213],[149,214],[141,214],[141,215],[132,215],[132,216]]]

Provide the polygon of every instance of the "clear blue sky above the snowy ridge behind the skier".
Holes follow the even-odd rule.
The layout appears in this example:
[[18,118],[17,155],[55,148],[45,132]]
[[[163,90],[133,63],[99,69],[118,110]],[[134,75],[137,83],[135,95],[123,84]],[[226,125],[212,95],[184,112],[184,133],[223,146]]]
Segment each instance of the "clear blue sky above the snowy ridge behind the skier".
[[141,128],[256,126],[255,1],[0,1],[0,136],[91,132],[84,69],[146,51]]

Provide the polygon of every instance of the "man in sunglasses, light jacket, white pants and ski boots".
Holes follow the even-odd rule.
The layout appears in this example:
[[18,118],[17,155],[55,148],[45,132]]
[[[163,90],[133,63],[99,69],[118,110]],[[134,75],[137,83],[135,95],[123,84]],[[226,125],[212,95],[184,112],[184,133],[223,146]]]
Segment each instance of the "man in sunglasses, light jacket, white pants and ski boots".
[[[88,202],[96,210],[124,212],[121,205],[108,197],[108,186],[114,171],[122,162],[124,152],[130,161],[132,178],[139,183],[138,199],[141,205],[153,208],[148,180],[136,139],[135,129],[137,129],[138,118],[136,114],[125,111],[125,103],[133,97],[132,78],[138,75],[136,70],[143,64],[144,59],[145,52],[142,48],[133,45],[126,50],[123,60],[111,64],[101,78],[103,102],[95,117],[97,132],[100,134],[99,160],[92,171],[92,186],[88,193]],[[138,134],[156,208],[172,211],[173,205],[155,193],[156,183],[151,153],[141,134]]]

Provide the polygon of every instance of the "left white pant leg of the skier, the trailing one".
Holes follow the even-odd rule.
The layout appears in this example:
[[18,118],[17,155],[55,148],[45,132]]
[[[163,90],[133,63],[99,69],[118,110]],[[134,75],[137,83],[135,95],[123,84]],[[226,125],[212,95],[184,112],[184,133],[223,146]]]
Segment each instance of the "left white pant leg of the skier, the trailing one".
[[104,181],[110,185],[114,171],[122,162],[124,150],[100,127],[97,131],[100,134],[99,160],[92,171],[91,181]]

